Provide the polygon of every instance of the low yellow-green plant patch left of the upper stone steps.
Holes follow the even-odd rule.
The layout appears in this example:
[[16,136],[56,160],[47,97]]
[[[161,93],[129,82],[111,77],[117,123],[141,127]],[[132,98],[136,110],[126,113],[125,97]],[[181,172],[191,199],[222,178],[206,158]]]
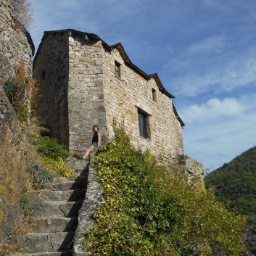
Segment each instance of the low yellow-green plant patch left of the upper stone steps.
[[62,158],[59,157],[57,160],[51,159],[49,157],[41,157],[41,160],[44,162],[44,166],[49,170],[54,170],[59,173],[61,176],[72,178],[73,177],[73,169],[70,168],[65,162],[62,161]]

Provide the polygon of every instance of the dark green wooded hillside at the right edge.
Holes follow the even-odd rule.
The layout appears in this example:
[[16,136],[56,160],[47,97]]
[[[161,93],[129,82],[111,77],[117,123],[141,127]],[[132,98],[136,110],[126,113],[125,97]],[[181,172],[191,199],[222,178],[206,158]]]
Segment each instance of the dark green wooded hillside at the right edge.
[[256,212],[256,146],[205,177],[205,186],[239,212]]

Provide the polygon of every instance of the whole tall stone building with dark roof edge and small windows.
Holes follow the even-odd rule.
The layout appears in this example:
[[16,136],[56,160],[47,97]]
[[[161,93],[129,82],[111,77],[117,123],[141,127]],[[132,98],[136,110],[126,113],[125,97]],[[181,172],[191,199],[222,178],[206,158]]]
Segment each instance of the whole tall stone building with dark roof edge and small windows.
[[77,30],[47,31],[33,62],[40,82],[38,112],[51,136],[70,152],[84,151],[91,127],[113,136],[122,123],[139,149],[171,160],[183,155],[183,121],[157,74],[131,62],[122,44],[108,45],[99,36]]

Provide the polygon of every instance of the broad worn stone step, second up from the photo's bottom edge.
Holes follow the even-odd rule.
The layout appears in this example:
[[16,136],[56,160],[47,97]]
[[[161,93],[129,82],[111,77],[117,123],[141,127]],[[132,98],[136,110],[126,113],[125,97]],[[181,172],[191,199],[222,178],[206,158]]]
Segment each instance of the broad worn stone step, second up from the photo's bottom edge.
[[[11,241],[28,252],[62,252],[72,247],[75,232],[12,235]],[[34,253],[33,253],[34,255]]]

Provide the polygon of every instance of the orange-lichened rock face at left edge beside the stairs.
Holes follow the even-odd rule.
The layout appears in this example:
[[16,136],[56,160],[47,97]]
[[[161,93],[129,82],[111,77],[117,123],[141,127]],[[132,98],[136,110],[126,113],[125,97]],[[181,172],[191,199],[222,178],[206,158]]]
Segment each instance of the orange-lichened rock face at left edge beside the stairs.
[[25,136],[15,110],[0,88],[0,244],[19,215]]

